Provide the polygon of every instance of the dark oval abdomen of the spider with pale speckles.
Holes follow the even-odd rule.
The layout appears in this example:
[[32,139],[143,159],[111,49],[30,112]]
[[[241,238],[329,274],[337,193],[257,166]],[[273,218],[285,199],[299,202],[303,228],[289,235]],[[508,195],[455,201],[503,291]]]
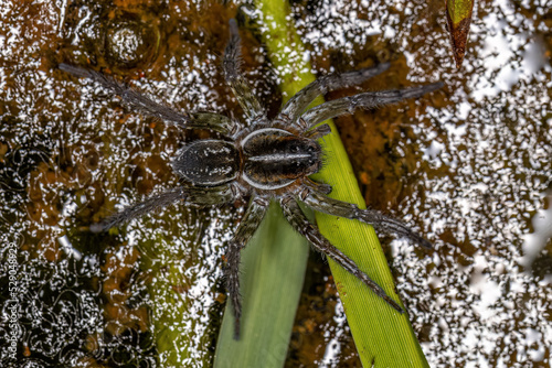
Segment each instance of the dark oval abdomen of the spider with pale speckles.
[[173,160],[172,167],[193,185],[221,185],[237,177],[240,153],[231,142],[197,141],[184,147]]

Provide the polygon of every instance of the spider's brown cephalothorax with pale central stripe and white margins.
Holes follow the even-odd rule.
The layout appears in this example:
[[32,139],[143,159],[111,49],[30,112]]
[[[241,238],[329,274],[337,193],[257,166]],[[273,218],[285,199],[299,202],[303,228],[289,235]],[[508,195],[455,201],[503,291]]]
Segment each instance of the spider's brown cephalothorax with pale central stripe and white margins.
[[264,128],[242,141],[243,178],[261,190],[277,190],[321,166],[321,148],[287,130]]

